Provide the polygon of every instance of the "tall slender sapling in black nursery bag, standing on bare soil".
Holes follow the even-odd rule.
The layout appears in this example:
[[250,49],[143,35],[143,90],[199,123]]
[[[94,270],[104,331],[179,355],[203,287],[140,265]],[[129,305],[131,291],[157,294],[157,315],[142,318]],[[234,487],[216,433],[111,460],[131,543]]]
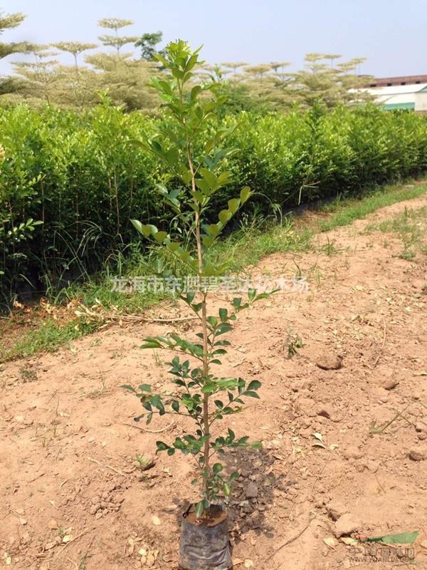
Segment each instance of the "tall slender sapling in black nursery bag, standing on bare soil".
[[[230,448],[259,448],[259,442],[249,442],[247,435],[237,437],[228,428],[225,435],[216,435],[216,423],[243,410],[245,398],[258,398],[258,380],[246,383],[242,378],[225,378],[218,375],[220,357],[226,353],[230,342],[223,335],[233,329],[233,321],[240,311],[254,301],[270,294],[247,291],[247,299],[233,299],[228,309],[218,314],[208,314],[209,286],[212,279],[219,279],[226,266],[209,261],[209,249],[238,209],[251,197],[251,190],[244,187],[239,197],[228,200],[228,207],[218,213],[218,221],[205,223],[211,199],[230,180],[226,159],[234,149],[224,145],[233,127],[219,124],[218,110],[223,98],[218,93],[218,83],[196,83],[194,71],[200,66],[199,51],[191,51],[184,41],[169,43],[164,56],[157,55],[162,63],[164,76],[153,78],[152,85],[164,101],[167,117],[159,123],[157,134],[149,146],[164,162],[168,171],[168,185],[157,185],[159,195],[171,207],[181,222],[177,239],[152,224],[142,224],[133,219],[137,231],[158,247],[167,250],[197,281],[196,290],[181,288],[179,297],[194,311],[201,330],[196,340],[181,338],[170,333],[144,339],[142,348],[173,351],[184,355],[174,356],[171,367],[173,390],[155,394],[148,384],[138,389],[125,386],[141,400],[147,423],[154,414],[178,414],[194,420],[195,429],[172,442],[157,442],[157,452],[174,455],[176,451],[191,455],[196,460],[199,477],[192,483],[200,483],[200,500],[183,515],[179,549],[179,565],[184,570],[227,570],[231,568],[228,544],[226,510],[220,497],[231,493],[231,485],[238,472],[224,475],[221,462],[214,455],[221,455]],[[175,186],[175,187],[174,187]],[[172,190],[170,190],[172,187]],[[209,212],[212,216],[212,212]],[[183,240],[182,236],[187,239]],[[164,262],[154,264],[162,274]],[[273,291],[272,291],[273,292]]]

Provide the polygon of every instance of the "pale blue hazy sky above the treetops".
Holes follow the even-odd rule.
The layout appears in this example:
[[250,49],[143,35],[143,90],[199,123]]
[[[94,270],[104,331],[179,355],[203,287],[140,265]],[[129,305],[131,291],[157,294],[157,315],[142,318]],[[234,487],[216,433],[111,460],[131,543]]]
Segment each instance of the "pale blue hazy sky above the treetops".
[[28,16],[2,41],[92,42],[102,33],[97,20],[117,16],[135,21],[127,34],[162,30],[165,41],[204,43],[211,63],[290,61],[295,69],[319,51],[367,57],[360,72],[375,76],[427,73],[427,0],[0,0],[0,10]]

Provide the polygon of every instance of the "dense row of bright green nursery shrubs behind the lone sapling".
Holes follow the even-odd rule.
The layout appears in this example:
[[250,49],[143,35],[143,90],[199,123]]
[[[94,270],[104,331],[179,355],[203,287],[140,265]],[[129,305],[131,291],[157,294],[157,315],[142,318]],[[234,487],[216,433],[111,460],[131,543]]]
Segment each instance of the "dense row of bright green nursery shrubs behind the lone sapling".
[[[145,142],[154,122],[104,103],[75,113],[24,105],[0,110],[0,290],[4,301],[90,274],[137,240],[132,217],[167,229],[157,194],[167,182]],[[427,170],[427,117],[350,110],[241,113],[231,136],[231,185],[248,185],[258,211],[290,209]],[[235,185],[235,186],[234,186]]]

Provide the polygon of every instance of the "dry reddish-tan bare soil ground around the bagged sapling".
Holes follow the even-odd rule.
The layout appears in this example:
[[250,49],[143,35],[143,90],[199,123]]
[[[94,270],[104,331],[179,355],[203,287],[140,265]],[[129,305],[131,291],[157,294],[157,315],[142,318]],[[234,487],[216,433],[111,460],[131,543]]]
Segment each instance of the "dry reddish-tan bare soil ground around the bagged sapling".
[[[426,255],[403,259],[399,234],[364,231],[426,205],[394,204],[321,234],[316,251],[259,264],[272,276],[298,266],[310,290],[260,301],[231,335],[225,373],[263,383],[261,400],[227,424],[264,444],[228,457],[241,470],[229,504],[236,569],[389,569],[405,563],[399,549],[391,561],[378,545],[371,554],[382,561],[354,561],[339,535],[415,530],[416,562],[427,564]],[[141,471],[135,456],[153,457],[155,441],[185,424],[165,416],[145,431],[132,420],[138,400],[120,388],[167,387],[162,355],[139,349],[165,328],[111,326],[0,369],[0,566],[176,569],[179,518],[196,499],[193,465],[162,454]],[[288,358],[294,333],[305,346]]]

